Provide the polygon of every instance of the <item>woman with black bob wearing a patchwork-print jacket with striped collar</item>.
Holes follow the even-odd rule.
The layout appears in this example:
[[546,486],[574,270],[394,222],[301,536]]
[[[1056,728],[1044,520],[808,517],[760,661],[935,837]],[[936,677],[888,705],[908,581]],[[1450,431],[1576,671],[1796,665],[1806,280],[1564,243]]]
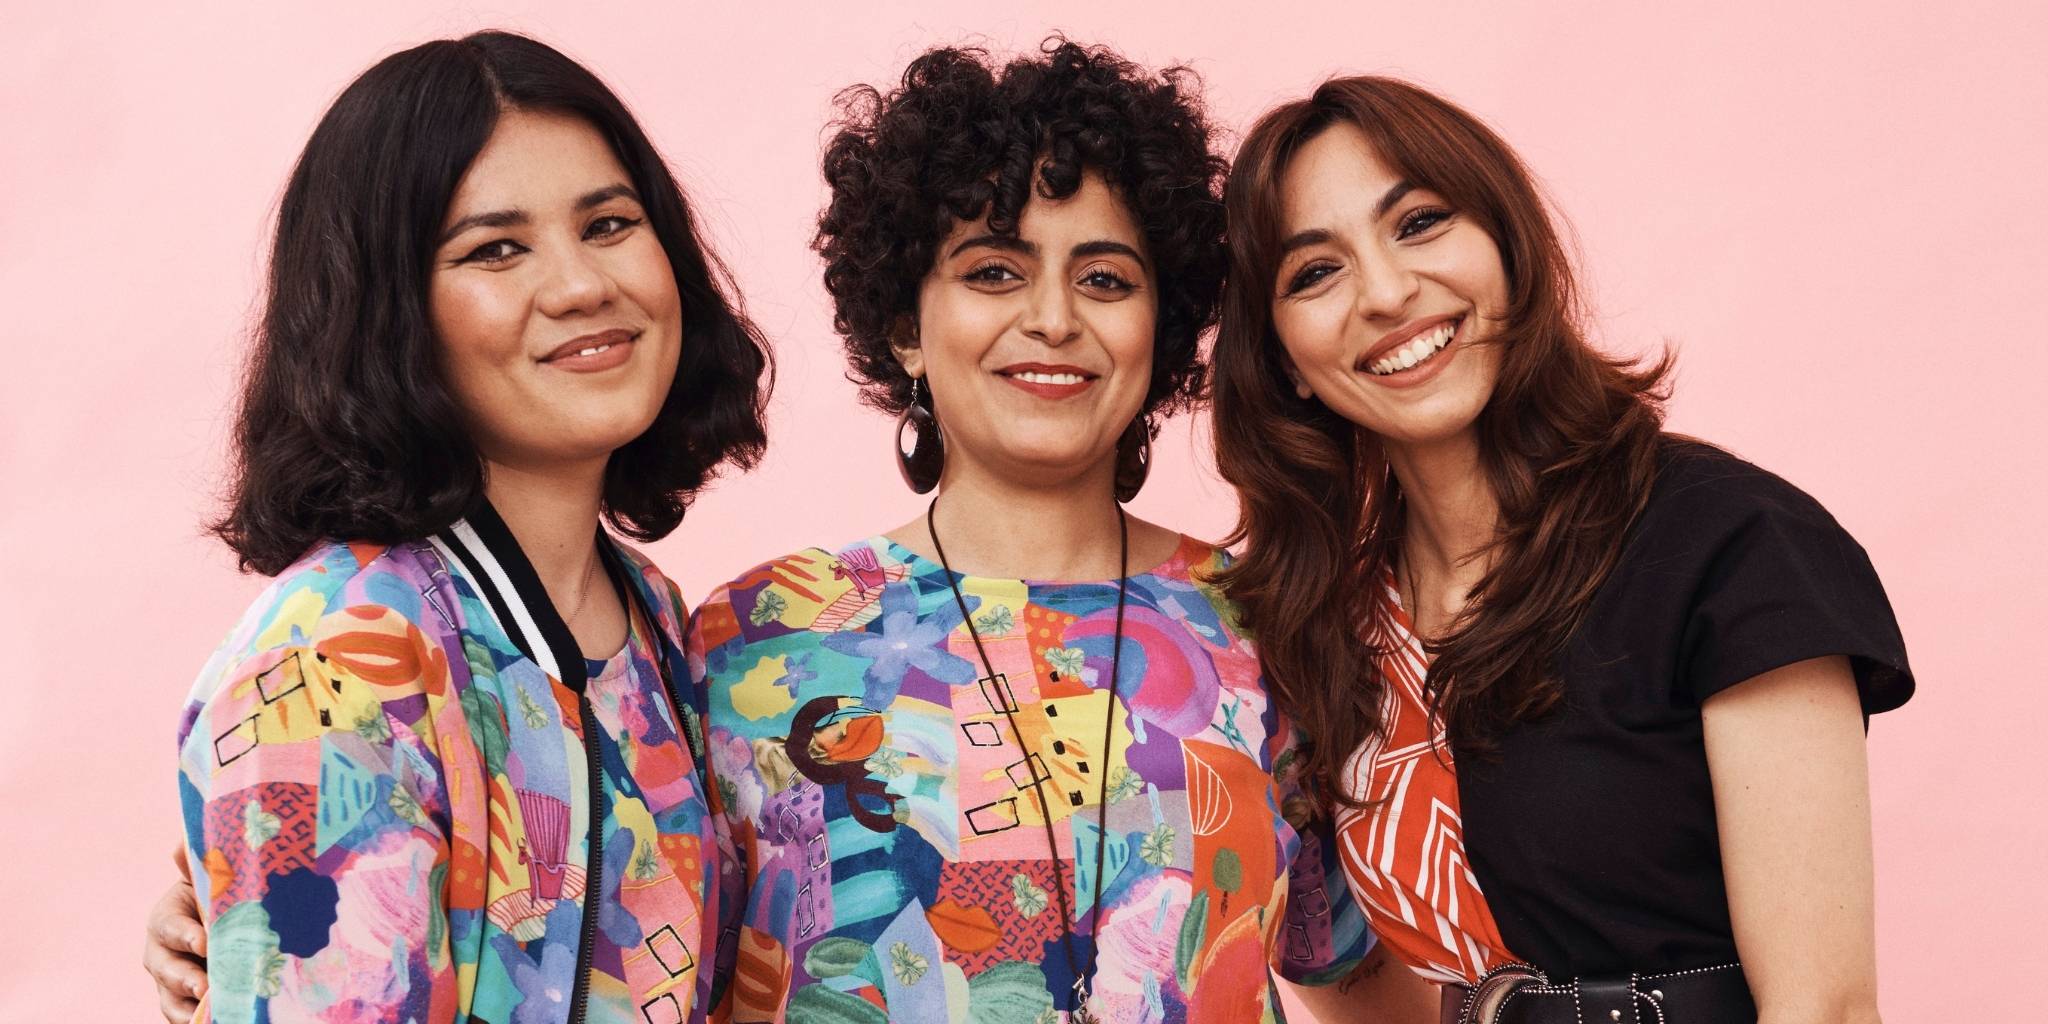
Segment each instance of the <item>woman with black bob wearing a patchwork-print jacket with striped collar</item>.
[[215,524],[276,580],[180,727],[201,1016],[705,1016],[684,610],[600,520],[664,537],[752,465],[766,373],[575,61],[479,33],[336,98],[279,209]]

